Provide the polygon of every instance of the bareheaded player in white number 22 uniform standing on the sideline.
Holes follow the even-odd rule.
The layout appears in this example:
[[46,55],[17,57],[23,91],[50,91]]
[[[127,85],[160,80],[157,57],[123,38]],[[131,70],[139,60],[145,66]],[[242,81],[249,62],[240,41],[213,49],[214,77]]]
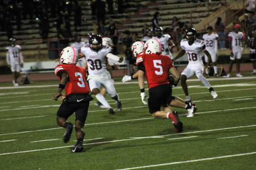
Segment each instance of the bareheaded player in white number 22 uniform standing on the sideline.
[[[211,55],[211,58],[212,58],[212,64],[213,64],[215,77],[218,77],[217,63],[216,63],[217,51],[218,51],[218,47],[217,47],[218,34],[213,34],[212,30],[213,30],[212,26],[207,27],[207,34],[203,35],[203,39],[204,39],[204,42],[206,45],[205,49],[209,52],[209,54]],[[205,60],[205,62],[208,62],[207,55],[204,55],[204,60]],[[206,69],[205,72],[206,72],[206,78],[209,78],[208,69]]]

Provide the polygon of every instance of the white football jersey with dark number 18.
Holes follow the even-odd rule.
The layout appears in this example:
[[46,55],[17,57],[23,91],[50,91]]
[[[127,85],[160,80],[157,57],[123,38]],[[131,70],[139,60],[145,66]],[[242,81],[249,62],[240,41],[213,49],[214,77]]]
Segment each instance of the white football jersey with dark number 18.
[[203,40],[196,39],[192,45],[189,45],[189,41],[186,39],[181,40],[180,47],[186,51],[189,58],[189,63],[202,62],[201,51],[204,46]]

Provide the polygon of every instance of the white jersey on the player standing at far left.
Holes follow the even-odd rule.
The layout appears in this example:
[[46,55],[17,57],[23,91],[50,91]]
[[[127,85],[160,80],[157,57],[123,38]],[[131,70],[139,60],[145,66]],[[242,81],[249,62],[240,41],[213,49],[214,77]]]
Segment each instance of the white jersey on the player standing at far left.
[[15,62],[23,62],[23,58],[22,56],[20,56],[20,45],[15,45],[13,46],[8,46],[6,47],[7,53],[9,55],[9,57],[7,57],[7,63],[8,64],[12,64]]

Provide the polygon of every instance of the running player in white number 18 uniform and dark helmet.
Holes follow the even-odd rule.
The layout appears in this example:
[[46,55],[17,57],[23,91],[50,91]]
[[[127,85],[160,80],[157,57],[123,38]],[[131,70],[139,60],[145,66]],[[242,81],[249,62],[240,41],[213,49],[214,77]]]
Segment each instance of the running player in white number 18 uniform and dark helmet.
[[178,59],[182,57],[185,52],[189,58],[188,66],[181,73],[180,83],[183,88],[183,91],[186,95],[186,102],[191,102],[191,98],[189,96],[188,87],[186,84],[186,80],[192,77],[194,74],[201,80],[201,82],[209,89],[213,99],[215,99],[218,95],[213,90],[207,79],[203,77],[204,64],[201,59],[201,51],[204,52],[208,57],[207,67],[209,66],[211,56],[209,52],[205,49],[204,41],[196,39],[197,32],[194,28],[189,28],[186,30],[186,39],[181,40],[180,47],[182,50],[177,54],[177,56],[173,59]]

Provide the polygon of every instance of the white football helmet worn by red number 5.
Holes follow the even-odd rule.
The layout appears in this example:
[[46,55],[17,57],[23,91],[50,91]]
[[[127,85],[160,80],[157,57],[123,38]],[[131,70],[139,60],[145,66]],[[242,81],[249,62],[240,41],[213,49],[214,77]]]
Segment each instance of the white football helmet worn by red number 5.
[[161,43],[156,39],[149,39],[145,42],[145,54],[162,54]]

